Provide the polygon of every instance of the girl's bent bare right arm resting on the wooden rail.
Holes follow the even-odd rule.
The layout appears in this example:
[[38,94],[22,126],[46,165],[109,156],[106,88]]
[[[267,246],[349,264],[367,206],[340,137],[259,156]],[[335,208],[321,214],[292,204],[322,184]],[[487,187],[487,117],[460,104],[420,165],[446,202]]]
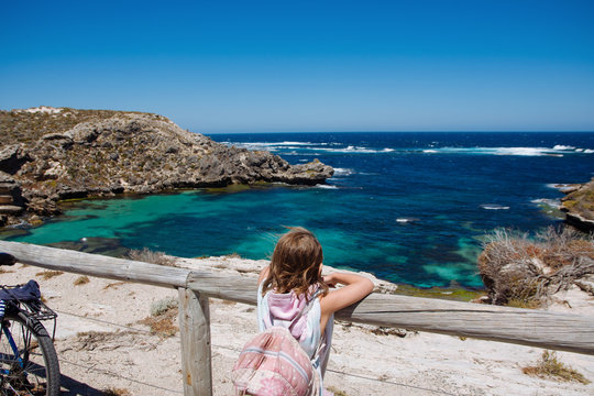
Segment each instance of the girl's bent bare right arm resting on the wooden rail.
[[332,314],[345,308],[367,296],[373,290],[373,282],[364,276],[349,273],[332,273],[323,277],[328,286],[336,284],[345,285],[338,290],[330,292],[320,300],[321,327],[326,323]]

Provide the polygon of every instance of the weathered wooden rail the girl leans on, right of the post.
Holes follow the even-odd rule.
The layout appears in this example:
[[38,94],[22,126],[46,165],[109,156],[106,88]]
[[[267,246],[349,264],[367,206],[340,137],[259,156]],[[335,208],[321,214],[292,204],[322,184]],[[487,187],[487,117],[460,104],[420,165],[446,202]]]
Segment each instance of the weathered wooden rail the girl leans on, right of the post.
[[[209,297],[255,305],[256,280],[193,272],[188,287]],[[594,354],[594,317],[372,294],[338,319]]]

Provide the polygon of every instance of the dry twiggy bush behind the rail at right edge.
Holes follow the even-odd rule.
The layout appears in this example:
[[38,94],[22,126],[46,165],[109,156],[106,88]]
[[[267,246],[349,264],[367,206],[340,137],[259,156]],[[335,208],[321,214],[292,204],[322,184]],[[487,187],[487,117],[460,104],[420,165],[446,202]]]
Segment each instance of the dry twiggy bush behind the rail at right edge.
[[537,308],[594,274],[594,240],[570,228],[534,238],[499,229],[486,237],[479,271],[493,304]]

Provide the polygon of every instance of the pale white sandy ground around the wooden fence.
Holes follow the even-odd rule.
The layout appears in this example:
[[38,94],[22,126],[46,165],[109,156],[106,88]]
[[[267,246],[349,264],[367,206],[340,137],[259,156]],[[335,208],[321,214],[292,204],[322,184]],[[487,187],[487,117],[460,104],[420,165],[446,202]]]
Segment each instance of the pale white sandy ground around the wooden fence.
[[[239,258],[182,260],[182,265],[256,276],[265,262]],[[16,264],[2,283],[35,278],[59,317],[56,349],[68,395],[127,389],[131,395],[182,394],[179,333],[151,336],[138,321],[151,304],[177,298],[175,289],[63,274],[43,279],[42,268]],[[386,287],[386,285],[384,285]],[[571,296],[569,296],[571,297]],[[568,297],[568,298],[569,298]],[[582,304],[590,310],[594,301]],[[565,308],[569,309],[569,308]],[[242,345],[256,332],[254,307],[211,300],[215,395],[232,395],[230,371]],[[373,327],[337,323],[326,386],[346,395],[594,395],[594,384],[560,383],[525,375],[542,354],[537,348],[430,333],[376,336]],[[80,332],[96,331],[92,337]],[[594,381],[594,356],[557,352]]]

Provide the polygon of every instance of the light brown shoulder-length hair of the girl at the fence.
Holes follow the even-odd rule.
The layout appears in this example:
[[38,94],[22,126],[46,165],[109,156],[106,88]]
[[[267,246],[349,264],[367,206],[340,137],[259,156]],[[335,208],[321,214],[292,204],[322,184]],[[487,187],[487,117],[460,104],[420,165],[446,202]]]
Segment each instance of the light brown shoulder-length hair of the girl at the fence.
[[328,286],[320,275],[323,261],[320,242],[314,233],[301,227],[289,229],[276,243],[268,275],[262,284],[262,295],[274,289],[276,293],[293,290],[307,297],[309,287],[319,284],[326,296]]

